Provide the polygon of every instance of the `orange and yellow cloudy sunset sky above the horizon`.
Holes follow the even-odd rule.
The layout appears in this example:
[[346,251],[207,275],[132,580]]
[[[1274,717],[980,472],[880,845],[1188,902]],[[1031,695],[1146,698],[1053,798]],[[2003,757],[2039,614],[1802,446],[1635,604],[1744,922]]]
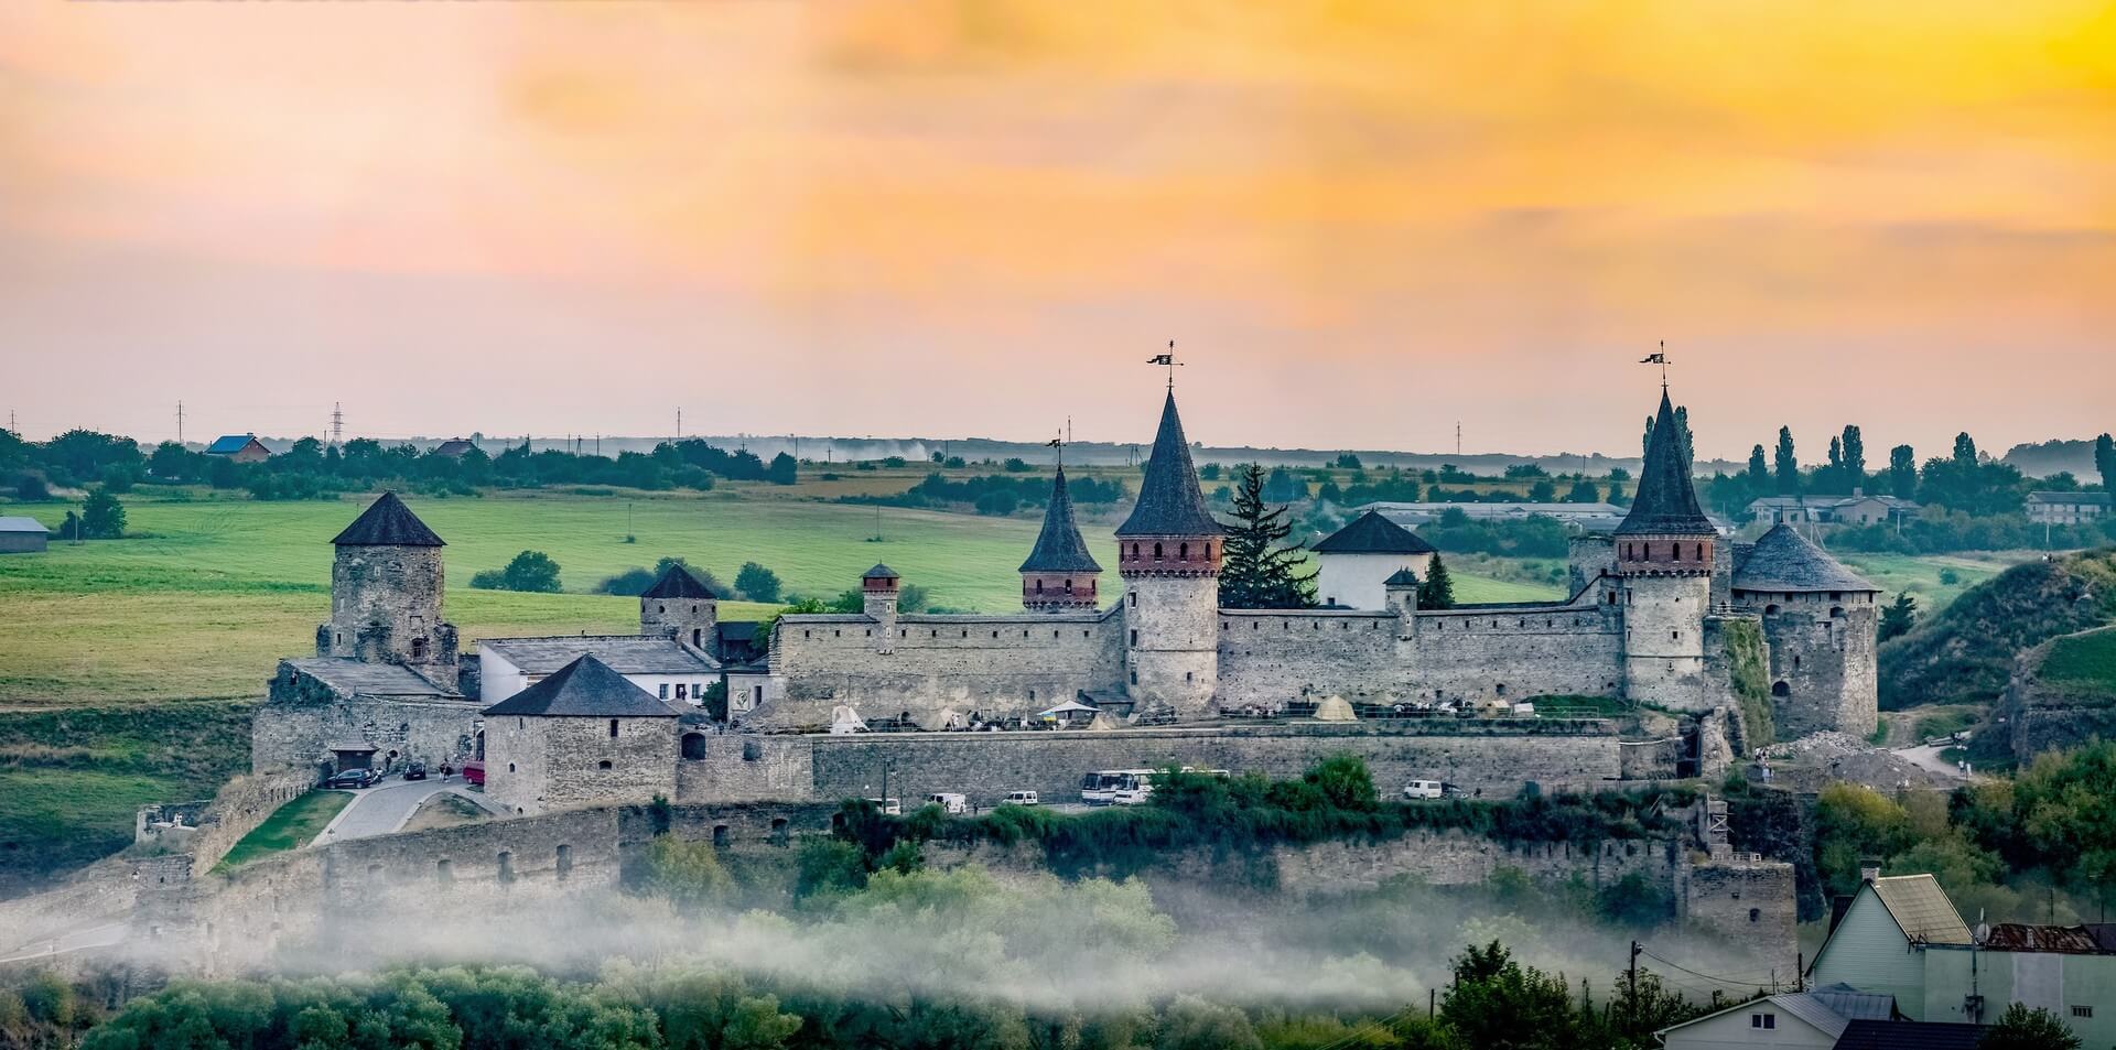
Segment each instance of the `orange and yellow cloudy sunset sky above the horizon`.
[[1701,455],[2116,428],[2116,4],[0,2],[0,411]]

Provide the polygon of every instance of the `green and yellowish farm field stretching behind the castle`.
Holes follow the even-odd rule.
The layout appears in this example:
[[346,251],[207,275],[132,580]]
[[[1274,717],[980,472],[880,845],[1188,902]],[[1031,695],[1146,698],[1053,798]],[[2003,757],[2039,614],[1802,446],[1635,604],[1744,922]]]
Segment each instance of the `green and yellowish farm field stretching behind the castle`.
[[[53,544],[0,559],[0,707],[129,705],[262,694],[275,660],[307,654],[330,608],[330,538],[366,500],[127,497],[127,540]],[[946,608],[1018,608],[1016,569],[1035,544],[1033,514],[992,519],[935,510],[707,495],[415,497],[449,542],[449,618],[468,650],[480,637],[631,633],[637,599],[590,595],[607,576],[677,555],[728,582],[743,561],[779,574],[787,593],[827,597],[887,561]],[[55,504],[8,512],[59,519]],[[876,525],[880,523],[880,525]],[[1081,525],[1109,553],[1113,521]],[[626,544],[626,529],[637,542]],[[880,531],[882,540],[874,536]],[[563,595],[463,586],[478,569],[544,550]],[[1113,561],[1113,559],[1109,559]],[[1111,569],[1111,576],[1115,572]],[[1460,601],[1532,601],[1557,589],[1456,574]],[[766,605],[724,603],[726,618]]]

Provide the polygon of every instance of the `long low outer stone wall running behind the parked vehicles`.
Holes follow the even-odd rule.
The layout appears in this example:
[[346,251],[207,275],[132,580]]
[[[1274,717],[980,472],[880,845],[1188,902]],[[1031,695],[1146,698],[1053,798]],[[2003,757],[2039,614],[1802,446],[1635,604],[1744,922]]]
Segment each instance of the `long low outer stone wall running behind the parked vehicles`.
[[1375,783],[1397,792],[1441,779],[1466,792],[1511,798],[1524,783],[1593,790],[1623,775],[1615,724],[1606,720],[1428,720],[1363,724],[1227,724],[1124,730],[709,735],[677,764],[686,802],[838,800],[961,792],[990,807],[1033,790],[1047,802],[1079,800],[1083,773],[1168,764],[1299,777],[1333,754],[1367,760]]

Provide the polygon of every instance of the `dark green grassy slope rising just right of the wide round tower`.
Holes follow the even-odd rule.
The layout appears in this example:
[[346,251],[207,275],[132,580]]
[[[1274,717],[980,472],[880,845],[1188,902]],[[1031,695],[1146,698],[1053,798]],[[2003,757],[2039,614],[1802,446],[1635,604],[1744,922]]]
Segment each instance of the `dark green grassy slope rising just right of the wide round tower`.
[[1991,703],[2021,650],[2108,622],[2116,622],[2116,550],[2014,565],[1881,646],[1881,707]]

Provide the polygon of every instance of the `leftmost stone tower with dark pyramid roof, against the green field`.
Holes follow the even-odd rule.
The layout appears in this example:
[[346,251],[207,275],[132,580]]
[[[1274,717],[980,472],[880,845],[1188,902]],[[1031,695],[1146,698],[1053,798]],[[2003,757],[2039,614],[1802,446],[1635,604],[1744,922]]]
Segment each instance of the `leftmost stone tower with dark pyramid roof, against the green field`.
[[315,631],[315,654],[406,665],[455,688],[455,624],[440,618],[440,536],[385,491],[332,546],[330,622]]

